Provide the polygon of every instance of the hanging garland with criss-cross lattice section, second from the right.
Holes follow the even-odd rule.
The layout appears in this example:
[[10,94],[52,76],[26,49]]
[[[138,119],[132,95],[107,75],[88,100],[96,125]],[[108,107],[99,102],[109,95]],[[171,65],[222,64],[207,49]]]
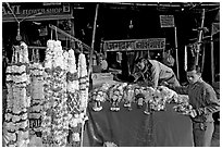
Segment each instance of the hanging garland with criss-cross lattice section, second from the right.
[[81,133],[81,101],[79,101],[79,84],[78,73],[76,70],[76,61],[74,50],[69,50],[69,70],[67,70],[67,105],[70,119],[70,146],[79,147]]

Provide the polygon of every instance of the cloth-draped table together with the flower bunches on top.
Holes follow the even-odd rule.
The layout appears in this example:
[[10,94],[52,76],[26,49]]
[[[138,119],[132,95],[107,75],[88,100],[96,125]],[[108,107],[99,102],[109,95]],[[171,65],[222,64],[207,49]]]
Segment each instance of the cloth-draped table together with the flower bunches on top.
[[193,146],[188,97],[160,86],[103,84],[89,96],[85,146]]

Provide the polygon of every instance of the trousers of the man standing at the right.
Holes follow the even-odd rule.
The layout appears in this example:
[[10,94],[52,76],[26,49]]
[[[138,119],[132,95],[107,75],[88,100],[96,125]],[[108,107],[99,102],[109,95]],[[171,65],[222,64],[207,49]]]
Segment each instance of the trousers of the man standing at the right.
[[210,147],[214,131],[213,122],[193,122],[193,135],[195,147]]

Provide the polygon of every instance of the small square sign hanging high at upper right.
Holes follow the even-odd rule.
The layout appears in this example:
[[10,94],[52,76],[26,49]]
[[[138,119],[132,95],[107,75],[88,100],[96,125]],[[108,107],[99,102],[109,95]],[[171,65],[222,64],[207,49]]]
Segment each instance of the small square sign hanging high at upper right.
[[173,15],[160,15],[160,26],[161,27],[174,27],[174,16]]

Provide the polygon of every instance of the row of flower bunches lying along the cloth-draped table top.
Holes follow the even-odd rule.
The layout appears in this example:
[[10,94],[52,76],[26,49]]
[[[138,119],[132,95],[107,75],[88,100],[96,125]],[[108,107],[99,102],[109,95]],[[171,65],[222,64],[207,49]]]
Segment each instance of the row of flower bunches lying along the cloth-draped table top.
[[187,95],[178,95],[174,90],[159,86],[157,89],[137,84],[116,83],[102,84],[89,94],[89,101],[94,103],[92,110],[102,110],[101,102],[109,101],[111,111],[120,111],[120,102],[124,102],[124,107],[130,111],[132,103],[137,103],[138,108],[146,107],[145,113],[150,111],[165,110],[166,103],[176,103],[175,111],[186,113],[192,107],[188,103]]

